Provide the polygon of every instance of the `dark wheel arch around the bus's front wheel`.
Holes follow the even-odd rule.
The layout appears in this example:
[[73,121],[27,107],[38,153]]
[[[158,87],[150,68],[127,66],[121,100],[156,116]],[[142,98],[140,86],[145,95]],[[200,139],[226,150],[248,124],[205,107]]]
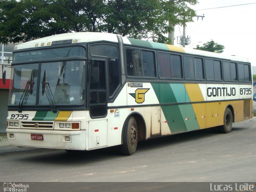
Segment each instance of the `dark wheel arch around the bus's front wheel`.
[[142,114],[138,112],[133,112],[129,116],[127,116],[126,120],[124,121],[124,125],[122,128],[122,144],[123,144],[123,134],[124,134],[124,128],[126,124],[128,123],[128,120],[130,117],[134,117],[138,126],[138,140],[146,140],[146,122],[142,116]]

